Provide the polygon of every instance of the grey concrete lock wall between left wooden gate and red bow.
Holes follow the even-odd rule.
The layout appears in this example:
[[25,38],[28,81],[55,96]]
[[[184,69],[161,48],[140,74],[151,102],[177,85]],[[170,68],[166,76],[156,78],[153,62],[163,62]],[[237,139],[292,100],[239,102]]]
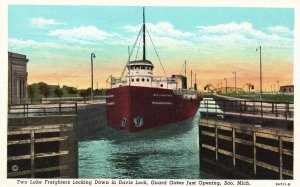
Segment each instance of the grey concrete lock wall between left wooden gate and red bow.
[[107,127],[106,105],[90,104],[78,107],[77,135],[83,138]]

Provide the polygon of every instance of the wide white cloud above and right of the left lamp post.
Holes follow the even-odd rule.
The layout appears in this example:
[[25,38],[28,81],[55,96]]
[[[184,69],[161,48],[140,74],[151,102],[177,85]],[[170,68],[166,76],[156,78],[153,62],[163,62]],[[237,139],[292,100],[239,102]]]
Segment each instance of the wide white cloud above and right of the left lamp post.
[[77,42],[82,44],[95,44],[99,41],[117,36],[110,34],[95,26],[80,26],[73,29],[56,29],[50,31],[49,35],[57,36],[58,38],[68,41]]

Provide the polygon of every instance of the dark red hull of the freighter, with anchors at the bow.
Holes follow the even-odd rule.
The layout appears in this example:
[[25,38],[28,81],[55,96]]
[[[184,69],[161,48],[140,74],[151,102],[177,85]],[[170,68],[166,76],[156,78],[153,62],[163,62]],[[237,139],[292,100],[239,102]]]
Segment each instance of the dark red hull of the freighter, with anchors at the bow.
[[106,92],[108,125],[142,131],[183,121],[195,115],[201,98],[184,99],[173,90],[122,86]]

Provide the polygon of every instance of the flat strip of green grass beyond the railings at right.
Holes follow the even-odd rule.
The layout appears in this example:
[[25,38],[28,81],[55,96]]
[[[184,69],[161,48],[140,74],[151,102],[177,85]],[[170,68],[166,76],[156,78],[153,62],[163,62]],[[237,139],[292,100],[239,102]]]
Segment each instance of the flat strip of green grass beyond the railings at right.
[[[260,100],[260,95],[257,93],[228,93],[228,94],[220,94],[230,97],[236,97],[241,99],[249,99],[249,100]],[[272,102],[294,102],[294,95],[284,95],[284,94],[262,94],[263,101],[272,101]]]

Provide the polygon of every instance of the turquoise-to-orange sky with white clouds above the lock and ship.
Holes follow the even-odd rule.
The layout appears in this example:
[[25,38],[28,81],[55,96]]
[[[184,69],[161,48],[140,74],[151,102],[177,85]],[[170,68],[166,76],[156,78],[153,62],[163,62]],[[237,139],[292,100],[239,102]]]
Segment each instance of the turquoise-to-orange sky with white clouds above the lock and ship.
[[[263,90],[293,84],[294,11],[288,8],[146,7],[146,27],[167,75],[197,74],[200,90],[246,83],[259,89],[262,47]],[[28,83],[90,87],[90,55],[94,87],[119,77],[142,22],[142,7],[8,6],[8,49],[25,54]],[[139,41],[139,40],[138,40]],[[163,70],[147,37],[147,59],[154,75]],[[141,47],[140,47],[141,49]],[[142,52],[131,59],[142,58]],[[190,81],[189,81],[190,82]]]

